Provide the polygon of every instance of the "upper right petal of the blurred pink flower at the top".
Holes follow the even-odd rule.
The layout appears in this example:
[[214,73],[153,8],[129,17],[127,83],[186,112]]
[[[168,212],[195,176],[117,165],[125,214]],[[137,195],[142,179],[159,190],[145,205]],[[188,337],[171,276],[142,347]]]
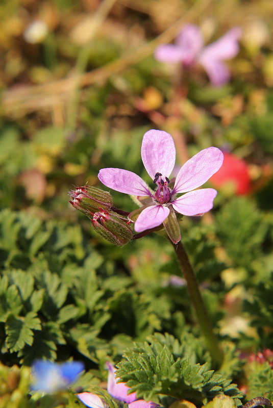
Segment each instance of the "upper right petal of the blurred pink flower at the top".
[[204,60],[228,60],[235,57],[239,52],[238,40],[242,35],[239,27],[229,30],[224,36],[210,45],[207,45],[199,58],[204,65]]

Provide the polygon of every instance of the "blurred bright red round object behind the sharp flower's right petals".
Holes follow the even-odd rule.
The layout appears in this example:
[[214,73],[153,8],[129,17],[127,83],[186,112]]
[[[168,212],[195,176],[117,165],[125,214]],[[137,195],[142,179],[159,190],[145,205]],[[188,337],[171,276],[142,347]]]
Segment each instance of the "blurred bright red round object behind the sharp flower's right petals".
[[251,178],[244,160],[231,153],[224,153],[222,167],[213,174],[210,182],[214,187],[222,187],[225,184],[233,183],[235,194],[244,195],[251,191]]

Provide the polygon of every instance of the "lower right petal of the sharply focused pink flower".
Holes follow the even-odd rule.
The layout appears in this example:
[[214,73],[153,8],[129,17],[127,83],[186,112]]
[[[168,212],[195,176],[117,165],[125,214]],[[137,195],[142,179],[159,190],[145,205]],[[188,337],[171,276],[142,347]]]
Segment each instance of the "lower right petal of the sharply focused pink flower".
[[217,195],[214,188],[202,188],[190,191],[172,202],[175,211],[183,215],[204,214],[213,207],[213,200]]

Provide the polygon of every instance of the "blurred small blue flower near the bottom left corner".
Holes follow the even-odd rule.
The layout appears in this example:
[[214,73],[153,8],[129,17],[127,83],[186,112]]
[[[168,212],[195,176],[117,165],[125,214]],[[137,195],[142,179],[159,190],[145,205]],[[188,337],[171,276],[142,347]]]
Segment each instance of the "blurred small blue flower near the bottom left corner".
[[79,374],[84,370],[81,362],[67,362],[63,364],[51,361],[37,360],[32,366],[33,391],[54,393],[68,387],[75,382]]

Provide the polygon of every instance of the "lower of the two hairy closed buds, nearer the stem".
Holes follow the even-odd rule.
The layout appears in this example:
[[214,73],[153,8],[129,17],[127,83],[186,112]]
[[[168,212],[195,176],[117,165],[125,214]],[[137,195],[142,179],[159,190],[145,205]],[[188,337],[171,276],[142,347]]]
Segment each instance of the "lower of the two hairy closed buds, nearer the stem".
[[96,232],[114,245],[123,246],[133,239],[133,232],[126,219],[113,212],[96,212],[91,222]]

